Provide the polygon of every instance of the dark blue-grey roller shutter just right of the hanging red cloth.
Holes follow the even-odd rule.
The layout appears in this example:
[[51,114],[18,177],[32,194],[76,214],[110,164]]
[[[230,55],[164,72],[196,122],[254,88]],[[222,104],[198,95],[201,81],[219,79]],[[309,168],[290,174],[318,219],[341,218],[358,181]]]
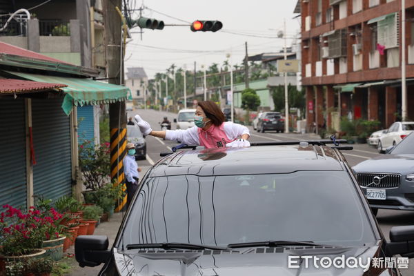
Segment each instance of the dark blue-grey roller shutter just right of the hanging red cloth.
[[57,199],[72,193],[70,119],[62,99],[33,99],[34,195]]

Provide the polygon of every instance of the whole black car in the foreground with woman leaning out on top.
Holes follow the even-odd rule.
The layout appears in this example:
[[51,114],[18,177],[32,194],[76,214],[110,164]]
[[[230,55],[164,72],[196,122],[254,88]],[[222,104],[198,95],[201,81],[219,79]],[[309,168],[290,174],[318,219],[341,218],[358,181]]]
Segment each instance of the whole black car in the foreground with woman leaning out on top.
[[[112,248],[79,236],[99,275],[400,275],[368,258],[412,257],[414,226],[381,233],[338,147],[316,141],[175,152],[152,166]],[[410,255],[411,254],[411,255]],[[362,258],[363,268],[288,268],[291,256]],[[408,260],[408,259],[407,259]]]

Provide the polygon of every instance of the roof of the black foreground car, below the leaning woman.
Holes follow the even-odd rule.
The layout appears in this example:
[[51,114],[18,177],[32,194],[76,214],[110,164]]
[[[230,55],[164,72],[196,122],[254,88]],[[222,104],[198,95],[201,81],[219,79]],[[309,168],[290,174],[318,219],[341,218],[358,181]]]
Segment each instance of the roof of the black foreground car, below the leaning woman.
[[149,177],[245,175],[297,170],[344,170],[342,157],[328,146],[252,146],[182,150],[161,159]]

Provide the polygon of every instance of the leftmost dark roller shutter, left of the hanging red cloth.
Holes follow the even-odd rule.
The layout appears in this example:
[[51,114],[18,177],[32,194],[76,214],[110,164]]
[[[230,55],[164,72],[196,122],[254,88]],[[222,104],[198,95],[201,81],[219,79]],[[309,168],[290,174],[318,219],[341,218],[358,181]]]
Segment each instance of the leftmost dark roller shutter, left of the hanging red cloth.
[[26,121],[23,99],[0,99],[0,206],[26,208]]

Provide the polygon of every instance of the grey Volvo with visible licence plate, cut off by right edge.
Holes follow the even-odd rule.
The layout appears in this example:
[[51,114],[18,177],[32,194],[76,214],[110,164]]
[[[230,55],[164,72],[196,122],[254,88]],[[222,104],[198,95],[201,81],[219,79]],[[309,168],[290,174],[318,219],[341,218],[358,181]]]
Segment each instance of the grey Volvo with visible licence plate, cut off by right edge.
[[379,208],[414,210],[414,133],[386,155],[353,167],[373,213]]

